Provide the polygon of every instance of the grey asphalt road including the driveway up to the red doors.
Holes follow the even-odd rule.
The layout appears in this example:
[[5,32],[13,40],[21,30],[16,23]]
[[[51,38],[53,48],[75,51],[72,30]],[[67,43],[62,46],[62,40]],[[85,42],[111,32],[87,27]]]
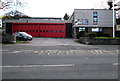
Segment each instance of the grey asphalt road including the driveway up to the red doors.
[[34,38],[2,45],[3,79],[118,79],[118,45]]

